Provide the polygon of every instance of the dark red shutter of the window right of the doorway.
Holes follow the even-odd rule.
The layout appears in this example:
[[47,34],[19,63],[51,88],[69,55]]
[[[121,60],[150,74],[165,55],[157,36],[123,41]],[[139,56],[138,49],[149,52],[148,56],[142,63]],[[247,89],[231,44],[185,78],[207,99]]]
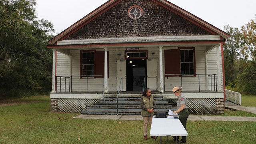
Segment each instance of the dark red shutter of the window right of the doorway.
[[[180,50],[164,50],[165,74],[180,74]],[[166,77],[180,75],[166,75]]]

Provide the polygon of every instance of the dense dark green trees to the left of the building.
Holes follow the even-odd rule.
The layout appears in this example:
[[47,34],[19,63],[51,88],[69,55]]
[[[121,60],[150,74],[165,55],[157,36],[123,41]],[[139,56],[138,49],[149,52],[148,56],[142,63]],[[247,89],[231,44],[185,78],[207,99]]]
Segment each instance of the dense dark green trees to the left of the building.
[[46,48],[54,31],[36,19],[34,0],[0,1],[0,98],[51,89],[52,52]]

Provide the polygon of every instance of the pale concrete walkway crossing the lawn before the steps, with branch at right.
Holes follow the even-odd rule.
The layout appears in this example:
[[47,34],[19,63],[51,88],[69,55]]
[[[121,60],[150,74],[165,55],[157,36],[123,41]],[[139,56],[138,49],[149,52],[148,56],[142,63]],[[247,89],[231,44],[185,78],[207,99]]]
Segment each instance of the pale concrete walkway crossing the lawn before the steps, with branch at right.
[[[232,102],[225,101],[225,108],[233,110],[242,110],[246,112],[251,112],[256,114],[256,106],[247,107],[239,106],[233,104]],[[74,118],[83,118],[83,119],[102,119],[102,120],[143,120],[142,116],[117,116],[117,115],[85,115],[81,114]],[[247,116],[204,116],[204,115],[190,115],[188,120],[209,120],[209,121],[248,121],[256,122],[256,117],[247,117]]]

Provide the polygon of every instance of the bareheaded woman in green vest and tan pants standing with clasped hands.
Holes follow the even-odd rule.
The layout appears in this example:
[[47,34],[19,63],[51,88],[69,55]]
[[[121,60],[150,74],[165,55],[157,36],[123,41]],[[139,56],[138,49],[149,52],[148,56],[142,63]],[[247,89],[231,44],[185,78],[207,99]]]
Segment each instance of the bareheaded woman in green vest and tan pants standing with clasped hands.
[[[143,117],[143,132],[144,139],[148,140],[148,124],[151,128],[152,119],[154,116],[154,109],[156,108],[156,104],[154,101],[154,97],[151,94],[151,90],[146,88],[140,98],[140,106],[141,106],[141,116]],[[151,136],[151,138],[156,139],[156,137]]]

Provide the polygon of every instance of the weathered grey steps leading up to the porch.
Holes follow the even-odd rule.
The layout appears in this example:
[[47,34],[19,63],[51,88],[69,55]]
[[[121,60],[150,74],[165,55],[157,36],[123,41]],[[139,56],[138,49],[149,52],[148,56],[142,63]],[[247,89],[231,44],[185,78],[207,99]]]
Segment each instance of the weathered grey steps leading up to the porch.
[[[176,108],[172,103],[168,102],[163,97],[155,97],[156,109],[155,112],[165,111]],[[87,107],[87,110],[81,111],[81,114],[92,115],[140,115],[140,96],[132,97],[104,97],[98,103]]]

